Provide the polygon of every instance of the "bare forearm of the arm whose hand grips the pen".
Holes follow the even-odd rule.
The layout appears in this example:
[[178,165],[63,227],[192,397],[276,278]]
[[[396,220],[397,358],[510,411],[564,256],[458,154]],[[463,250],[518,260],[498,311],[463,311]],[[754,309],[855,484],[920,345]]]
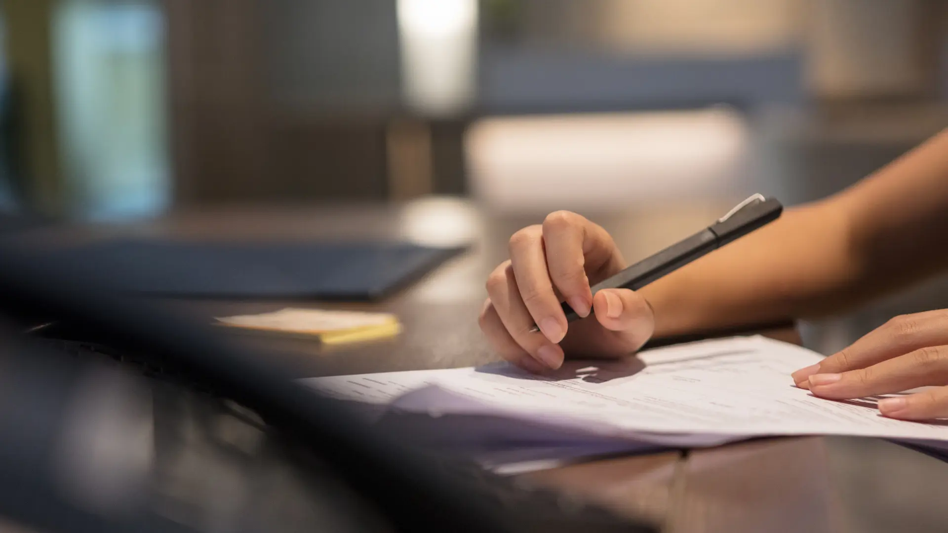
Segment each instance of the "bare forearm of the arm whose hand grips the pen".
[[640,292],[656,335],[828,315],[948,263],[948,134]]

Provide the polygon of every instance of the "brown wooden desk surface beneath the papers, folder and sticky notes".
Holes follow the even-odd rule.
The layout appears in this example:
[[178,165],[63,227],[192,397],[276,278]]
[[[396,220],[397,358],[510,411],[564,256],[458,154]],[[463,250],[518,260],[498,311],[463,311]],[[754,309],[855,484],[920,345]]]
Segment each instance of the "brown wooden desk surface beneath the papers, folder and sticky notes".
[[[701,228],[723,203],[655,206],[596,216],[629,261]],[[79,239],[114,233],[184,239],[400,238],[428,244],[468,242],[451,260],[391,301],[379,304],[282,302],[177,303],[210,318],[273,310],[287,304],[382,309],[405,331],[392,340],[326,349],[304,340],[246,337],[286,358],[301,377],[476,365],[496,360],[476,317],[490,270],[506,258],[506,239],[542,215],[488,215],[469,204],[429,200],[402,206],[228,208],[181,212],[160,220],[57,233]],[[770,334],[796,340],[793,328]],[[875,439],[762,439],[688,453],[619,457],[534,472],[539,483],[579,492],[630,514],[646,514],[665,531],[885,531],[939,529],[948,524],[940,486],[948,466]],[[943,529],[944,527],[940,527]]]

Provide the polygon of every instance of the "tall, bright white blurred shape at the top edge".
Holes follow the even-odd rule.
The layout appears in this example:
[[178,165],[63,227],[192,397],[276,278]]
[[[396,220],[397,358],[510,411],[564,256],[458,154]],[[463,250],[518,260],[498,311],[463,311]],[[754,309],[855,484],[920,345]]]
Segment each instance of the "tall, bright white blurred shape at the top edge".
[[409,105],[431,114],[474,98],[477,0],[398,0],[402,85]]

